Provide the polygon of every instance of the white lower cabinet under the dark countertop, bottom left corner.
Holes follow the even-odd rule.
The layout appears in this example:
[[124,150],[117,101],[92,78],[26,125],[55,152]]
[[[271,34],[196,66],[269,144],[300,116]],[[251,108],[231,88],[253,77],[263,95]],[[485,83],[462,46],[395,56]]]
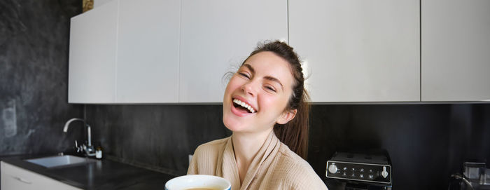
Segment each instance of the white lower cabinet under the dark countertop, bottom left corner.
[[1,162],[1,189],[78,189],[55,179]]

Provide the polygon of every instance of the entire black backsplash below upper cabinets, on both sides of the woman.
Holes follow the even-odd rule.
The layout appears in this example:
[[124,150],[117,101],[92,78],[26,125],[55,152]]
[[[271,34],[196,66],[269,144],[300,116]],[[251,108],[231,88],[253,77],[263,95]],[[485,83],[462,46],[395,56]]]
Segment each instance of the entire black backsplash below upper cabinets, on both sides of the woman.
[[[204,142],[228,137],[221,105],[87,105],[105,154],[177,175]],[[387,149],[395,189],[447,189],[464,161],[490,158],[490,104],[314,105],[308,161],[318,175],[335,151]]]

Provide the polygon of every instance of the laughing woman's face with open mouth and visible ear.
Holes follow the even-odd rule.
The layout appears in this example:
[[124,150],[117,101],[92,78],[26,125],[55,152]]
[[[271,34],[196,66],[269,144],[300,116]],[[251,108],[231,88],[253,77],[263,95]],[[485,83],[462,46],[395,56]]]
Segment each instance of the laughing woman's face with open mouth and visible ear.
[[271,130],[275,123],[287,123],[295,110],[286,105],[293,93],[289,63],[272,52],[260,52],[244,62],[226,86],[223,123],[233,132]]

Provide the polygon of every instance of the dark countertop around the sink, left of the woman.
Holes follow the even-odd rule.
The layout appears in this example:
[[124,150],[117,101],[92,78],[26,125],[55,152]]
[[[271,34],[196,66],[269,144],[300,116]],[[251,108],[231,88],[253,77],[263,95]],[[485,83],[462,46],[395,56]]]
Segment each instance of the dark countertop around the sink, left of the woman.
[[165,183],[176,177],[107,159],[57,168],[24,161],[40,157],[43,156],[15,156],[0,160],[80,189],[165,189]]

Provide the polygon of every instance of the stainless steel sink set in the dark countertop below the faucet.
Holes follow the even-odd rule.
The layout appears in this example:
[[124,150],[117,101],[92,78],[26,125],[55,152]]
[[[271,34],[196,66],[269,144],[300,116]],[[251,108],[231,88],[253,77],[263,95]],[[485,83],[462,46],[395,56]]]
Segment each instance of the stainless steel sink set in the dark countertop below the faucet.
[[82,157],[71,156],[71,155],[34,158],[34,159],[27,159],[25,161],[28,161],[30,163],[35,163],[37,165],[42,165],[46,168],[54,168],[54,167],[64,166],[64,165],[76,165],[80,163],[94,162],[94,160],[90,158],[82,158]]

